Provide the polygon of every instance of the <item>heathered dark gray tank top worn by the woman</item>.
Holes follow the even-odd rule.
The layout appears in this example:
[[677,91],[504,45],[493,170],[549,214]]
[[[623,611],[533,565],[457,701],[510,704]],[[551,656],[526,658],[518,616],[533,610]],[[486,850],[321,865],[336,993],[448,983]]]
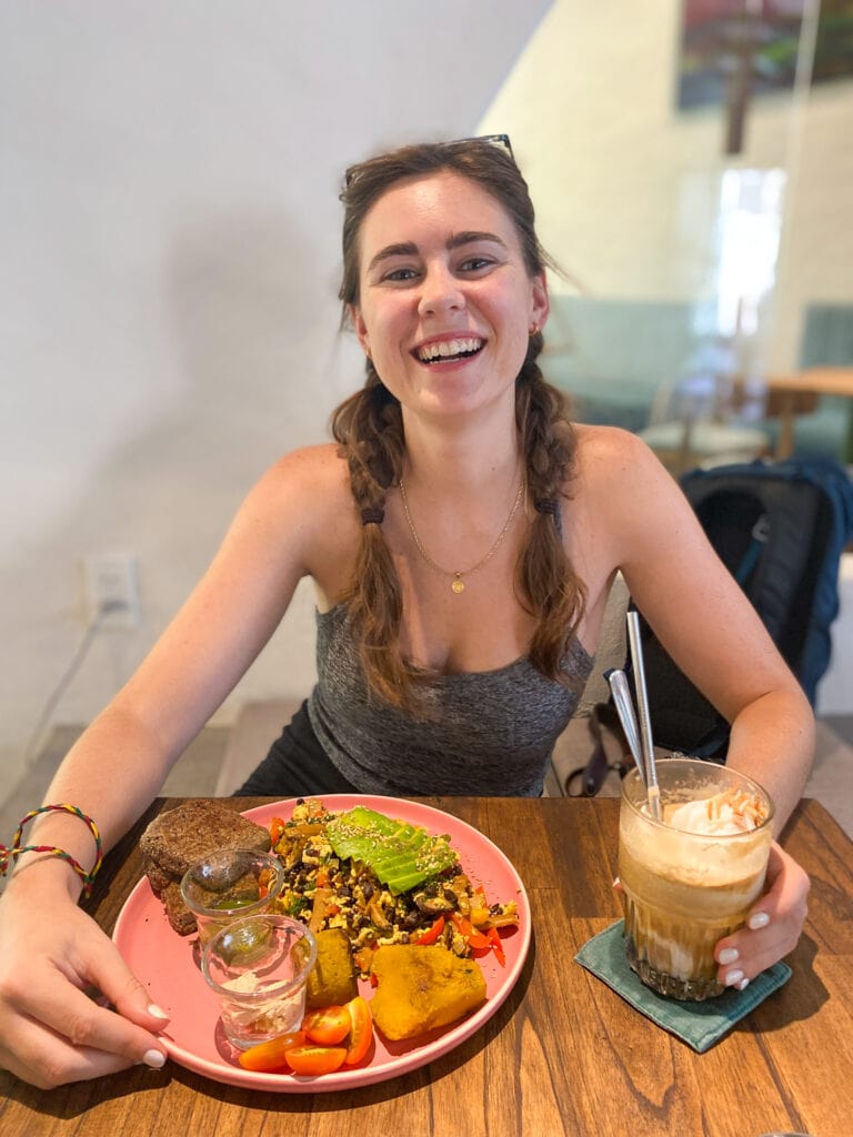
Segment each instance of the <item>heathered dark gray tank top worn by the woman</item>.
[[308,715],[331,762],[363,794],[538,797],[554,742],[593,669],[574,639],[566,684],[527,659],[441,675],[426,686],[429,721],[368,698],[342,605],[317,612],[317,684]]

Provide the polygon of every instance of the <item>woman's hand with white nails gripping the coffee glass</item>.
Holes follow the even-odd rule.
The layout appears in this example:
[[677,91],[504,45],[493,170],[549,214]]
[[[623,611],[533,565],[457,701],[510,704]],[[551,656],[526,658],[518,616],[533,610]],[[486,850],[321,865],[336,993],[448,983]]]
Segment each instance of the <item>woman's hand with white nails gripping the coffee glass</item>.
[[794,951],[809,911],[809,888],[805,871],[773,841],[767,891],[753,906],[746,927],[717,945],[718,979],[723,986],[743,990],[751,979]]

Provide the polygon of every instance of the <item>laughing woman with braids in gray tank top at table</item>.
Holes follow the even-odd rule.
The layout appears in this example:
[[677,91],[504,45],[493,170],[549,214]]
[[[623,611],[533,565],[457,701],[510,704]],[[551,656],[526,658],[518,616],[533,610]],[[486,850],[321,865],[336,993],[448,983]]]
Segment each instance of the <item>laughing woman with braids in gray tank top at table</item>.
[[[334,414],[333,442],[284,455],[250,491],[50,799],[113,844],[305,576],[317,684],[243,795],[538,795],[621,571],[732,723],[729,765],[764,785],[780,828],[811,760],[808,702],[647,447],[571,423],[543,379],[549,262],[508,147],[405,147],[351,167],[342,201],[340,298],[364,385]],[[85,827],[51,813],[34,829],[91,869]],[[721,981],[756,976],[800,935],[808,880],[781,850],[770,864],[761,919],[717,945]],[[0,899],[0,1062],[39,1085],[165,1061],[163,1012],[74,906],[78,888],[68,863],[25,854]],[[90,985],[117,1014],[90,1005]]]

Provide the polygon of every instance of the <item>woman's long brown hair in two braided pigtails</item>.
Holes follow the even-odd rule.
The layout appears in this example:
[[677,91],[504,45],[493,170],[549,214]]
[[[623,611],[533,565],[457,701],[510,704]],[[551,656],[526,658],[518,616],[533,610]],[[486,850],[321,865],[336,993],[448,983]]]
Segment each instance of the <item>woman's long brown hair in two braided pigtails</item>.
[[[341,193],[345,219],[340,299],[345,322],[349,306],[358,305],[358,236],[368,209],[401,177],[444,169],[475,182],[506,209],[531,276],[546,265],[553,266],[536,235],[527,183],[507,150],[478,140],[404,147],[347,172]],[[537,506],[519,557],[516,592],[537,621],[529,658],[543,674],[560,681],[564,678],[561,662],[583,611],[585,589],[565,556],[554,517],[572,474],[575,437],[564,396],[545,381],[536,362],[541,349],[543,335],[536,331],[515,381],[520,450],[524,455],[528,493]],[[366,375],[364,387],[334,412],[332,432],[349,466],[357,512],[371,511],[367,517],[378,520],[388,490],[403,475],[405,440],[399,401],[384,387],[370,358]],[[416,712],[416,686],[425,674],[414,672],[400,649],[403,594],[381,524],[362,526],[355,571],[342,599],[353,621],[368,689],[396,706]]]

